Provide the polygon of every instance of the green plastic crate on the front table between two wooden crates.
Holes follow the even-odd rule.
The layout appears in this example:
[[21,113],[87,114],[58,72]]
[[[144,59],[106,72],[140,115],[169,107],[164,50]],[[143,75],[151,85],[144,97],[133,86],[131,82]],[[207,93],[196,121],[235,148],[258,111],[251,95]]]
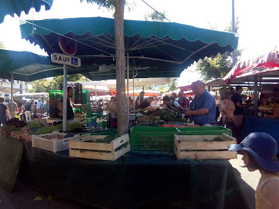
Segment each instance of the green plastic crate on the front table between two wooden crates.
[[131,150],[174,150],[176,127],[133,127],[130,131]]

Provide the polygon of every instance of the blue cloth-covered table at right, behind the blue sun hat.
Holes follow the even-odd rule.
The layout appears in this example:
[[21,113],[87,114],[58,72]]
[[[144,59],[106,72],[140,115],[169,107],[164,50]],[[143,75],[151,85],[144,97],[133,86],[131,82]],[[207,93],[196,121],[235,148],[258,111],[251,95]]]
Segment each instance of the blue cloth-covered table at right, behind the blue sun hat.
[[[252,132],[265,132],[270,134],[279,144],[279,119],[245,116],[243,121],[243,139]],[[278,153],[279,155],[279,147]]]

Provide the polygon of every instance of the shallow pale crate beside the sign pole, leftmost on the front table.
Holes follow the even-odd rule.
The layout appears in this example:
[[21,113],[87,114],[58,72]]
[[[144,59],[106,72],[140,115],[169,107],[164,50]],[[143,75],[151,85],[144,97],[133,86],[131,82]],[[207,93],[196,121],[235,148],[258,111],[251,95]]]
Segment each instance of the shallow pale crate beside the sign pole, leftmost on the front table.
[[68,150],[68,141],[82,139],[84,136],[67,137],[66,133],[54,131],[49,134],[32,135],[32,147],[48,150],[53,153]]

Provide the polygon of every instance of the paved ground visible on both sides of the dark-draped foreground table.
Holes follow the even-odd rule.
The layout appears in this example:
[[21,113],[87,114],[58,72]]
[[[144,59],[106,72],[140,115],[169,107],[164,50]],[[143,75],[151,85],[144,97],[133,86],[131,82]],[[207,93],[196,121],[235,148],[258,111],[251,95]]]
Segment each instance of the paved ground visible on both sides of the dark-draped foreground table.
[[[259,171],[249,172],[243,168],[242,155],[238,155],[237,159],[229,160],[234,167],[234,172],[241,183],[241,187],[246,194],[252,208],[255,208],[255,189],[259,183]],[[36,200],[38,199],[38,200]],[[25,185],[17,180],[13,192],[6,192],[0,189],[0,209],[98,209],[93,206],[85,205],[77,201],[61,199],[50,194],[45,194],[34,189],[29,185]]]

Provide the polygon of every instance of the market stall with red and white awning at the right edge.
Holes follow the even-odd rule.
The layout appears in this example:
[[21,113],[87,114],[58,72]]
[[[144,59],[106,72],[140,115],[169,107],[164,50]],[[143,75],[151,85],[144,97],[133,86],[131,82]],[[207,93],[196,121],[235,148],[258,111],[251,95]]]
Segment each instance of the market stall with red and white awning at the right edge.
[[[246,107],[243,123],[243,137],[261,130],[279,141],[274,130],[278,127],[279,51],[278,47],[268,54],[239,61],[223,79],[206,83],[206,86],[243,86],[254,93],[254,100]],[[259,96],[260,94],[260,96]],[[252,116],[251,116],[252,115]],[[262,118],[263,117],[263,118]],[[273,121],[273,123],[272,123]]]

